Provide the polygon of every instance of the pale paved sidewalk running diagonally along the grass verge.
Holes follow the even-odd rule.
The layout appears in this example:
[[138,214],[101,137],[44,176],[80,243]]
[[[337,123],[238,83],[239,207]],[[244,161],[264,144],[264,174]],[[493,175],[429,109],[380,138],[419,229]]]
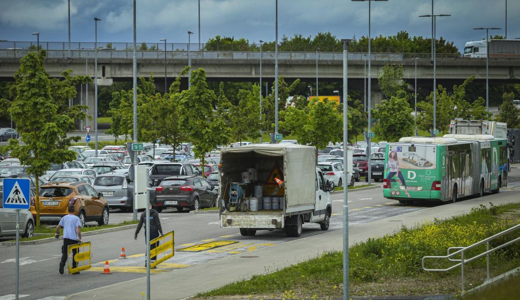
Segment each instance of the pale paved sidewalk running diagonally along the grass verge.
[[[408,227],[435,218],[445,219],[464,212],[478,204],[503,204],[518,202],[517,193],[500,193],[483,198],[467,199],[462,202],[441,205],[420,211],[390,217],[349,228],[349,244],[365,241],[368,238],[381,237],[399,231],[402,225]],[[266,272],[297,264],[319,256],[326,251],[342,251],[343,231],[297,239],[273,247],[248,252],[253,258],[239,258],[233,255],[208,263],[176,269],[171,272],[151,277],[151,298],[176,300],[194,294],[213,290],[222,285],[241,279],[251,278]],[[100,275],[101,276],[101,275]],[[141,292],[146,293],[146,277],[116,283],[90,291],[73,294],[67,299],[141,299]]]

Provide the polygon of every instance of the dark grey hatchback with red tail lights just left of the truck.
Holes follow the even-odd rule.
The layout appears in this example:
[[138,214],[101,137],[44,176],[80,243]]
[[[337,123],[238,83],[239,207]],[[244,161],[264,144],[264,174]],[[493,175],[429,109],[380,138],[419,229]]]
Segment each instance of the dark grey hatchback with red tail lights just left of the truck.
[[167,207],[174,207],[179,211],[184,208],[199,210],[216,206],[217,193],[209,182],[199,176],[169,177],[155,188],[152,204],[158,212]]

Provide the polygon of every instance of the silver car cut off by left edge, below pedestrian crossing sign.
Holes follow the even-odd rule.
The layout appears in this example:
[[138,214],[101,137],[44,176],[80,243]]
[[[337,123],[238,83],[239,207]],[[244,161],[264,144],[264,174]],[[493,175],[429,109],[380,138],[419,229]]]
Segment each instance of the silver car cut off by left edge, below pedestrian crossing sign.
[[[31,190],[31,197],[36,194]],[[20,211],[20,234],[23,238],[34,235],[34,219],[27,209]],[[22,231],[23,230],[23,231]],[[16,209],[4,208],[4,201],[0,202],[0,237],[16,236]]]

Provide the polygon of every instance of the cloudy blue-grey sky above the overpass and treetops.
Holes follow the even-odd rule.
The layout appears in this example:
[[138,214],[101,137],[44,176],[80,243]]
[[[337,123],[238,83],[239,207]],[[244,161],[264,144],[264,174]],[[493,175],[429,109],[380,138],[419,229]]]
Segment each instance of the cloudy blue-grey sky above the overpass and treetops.
[[[475,27],[498,27],[504,35],[506,0],[434,0],[437,36],[455,42],[460,49],[469,40],[485,37]],[[72,42],[94,41],[94,17],[98,41],[132,42],[132,0],[70,0]],[[275,39],[275,0],[200,0],[201,42],[215,35],[244,37],[250,42]],[[279,0],[279,36],[314,36],[331,32],[339,38],[368,35],[368,2],[350,0]],[[372,3],[372,36],[431,36],[431,0],[389,0]],[[137,41],[192,43],[198,41],[197,0],[137,0]],[[520,0],[508,1],[508,38],[520,37]],[[67,0],[0,0],[0,39],[30,41],[40,32],[45,42],[67,41]]]

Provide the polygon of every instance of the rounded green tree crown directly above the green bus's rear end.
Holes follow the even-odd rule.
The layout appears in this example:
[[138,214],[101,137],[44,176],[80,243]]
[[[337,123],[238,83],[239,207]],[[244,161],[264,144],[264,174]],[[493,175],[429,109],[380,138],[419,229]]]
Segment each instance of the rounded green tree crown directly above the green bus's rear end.
[[[403,96],[400,93],[400,96]],[[372,115],[378,120],[375,133],[388,142],[398,141],[399,138],[409,137],[413,133],[415,121],[411,115],[413,112],[406,97],[393,96],[390,100],[383,100],[376,104]]]

